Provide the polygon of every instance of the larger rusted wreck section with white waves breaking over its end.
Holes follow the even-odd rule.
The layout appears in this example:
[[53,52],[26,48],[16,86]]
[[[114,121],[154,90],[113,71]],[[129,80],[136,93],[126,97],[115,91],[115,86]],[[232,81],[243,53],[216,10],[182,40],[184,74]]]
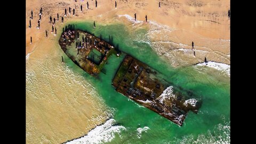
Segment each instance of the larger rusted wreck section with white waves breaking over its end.
[[156,70],[126,55],[112,85],[119,93],[182,125],[189,110],[197,113],[200,102],[186,100],[178,87],[168,87],[168,83],[159,77]]

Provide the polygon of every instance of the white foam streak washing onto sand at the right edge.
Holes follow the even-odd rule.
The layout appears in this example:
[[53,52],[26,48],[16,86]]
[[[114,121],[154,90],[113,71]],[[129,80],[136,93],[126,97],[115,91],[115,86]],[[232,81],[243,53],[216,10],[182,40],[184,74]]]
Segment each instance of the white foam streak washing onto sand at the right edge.
[[208,61],[208,62],[198,63],[196,66],[207,66],[207,67],[215,68],[217,70],[222,71],[223,73],[226,73],[228,76],[230,76],[230,65],[227,65],[225,63]]

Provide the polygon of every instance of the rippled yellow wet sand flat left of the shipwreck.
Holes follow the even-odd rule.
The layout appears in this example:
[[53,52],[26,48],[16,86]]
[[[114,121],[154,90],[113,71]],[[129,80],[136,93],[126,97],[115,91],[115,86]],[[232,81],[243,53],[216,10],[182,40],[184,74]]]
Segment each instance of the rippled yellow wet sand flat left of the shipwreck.
[[27,143],[81,137],[110,114],[94,87],[61,63],[58,42],[51,44],[39,43],[26,59]]

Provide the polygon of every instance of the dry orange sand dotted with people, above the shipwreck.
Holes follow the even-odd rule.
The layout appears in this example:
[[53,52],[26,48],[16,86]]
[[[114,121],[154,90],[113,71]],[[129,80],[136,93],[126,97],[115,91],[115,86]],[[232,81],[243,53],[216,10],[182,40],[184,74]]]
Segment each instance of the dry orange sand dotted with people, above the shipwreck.
[[[229,1],[160,1],[161,8],[158,7],[158,2],[117,1],[117,9],[115,9],[115,1],[100,1],[98,2],[97,8],[95,8],[95,1],[89,1],[89,10],[86,10],[85,1],[27,1],[26,54],[35,49],[37,41],[42,41],[42,38],[45,36],[45,29],[51,30],[51,25],[46,24],[49,22],[50,15],[53,18],[57,17],[57,13],[63,16],[65,8],[68,11],[69,6],[73,9],[76,5],[78,17],[68,14],[68,17],[65,17],[64,21],[90,19],[100,22],[107,20],[107,18],[113,18],[115,15],[128,14],[134,17],[134,13],[137,13],[137,20],[145,21],[145,15],[147,14],[148,21],[154,21],[161,25],[174,28],[175,33],[173,36],[179,39],[177,41],[178,43],[188,45],[185,49],[191,49],[191,42],[194,41],[196,50],[210,52],[207,54],[209,55],[209,60],[220,62],[218,58],[215,58],[217,54],[227,59],[222,60],[223,63],[230,64],[230,20],[227,16],[227,11],[230,9]],[[84,7],[82,13],[79,9],[81,4]],[[41,21],[41,30],[37,30],[38,13],[41,6],[43,7],[44,15]],[[31,10],[34,11],[34,20],[31,21],[33,28],[29,29],[28,23]],[[104,14],[104,18],[97,17],[102,14]],[[57,24],[57,31],[58,28],[59,24]],[[40,31],[40,33],[33,34],[33,31]],[[35,45],[29,44],[30,36],[33,36],[33,43]],[[165,40],[175,41],[172,37]],[[211,46],[209,46],[209,43]],[[223,46],[223,43],[225,43],[225,46]]]

